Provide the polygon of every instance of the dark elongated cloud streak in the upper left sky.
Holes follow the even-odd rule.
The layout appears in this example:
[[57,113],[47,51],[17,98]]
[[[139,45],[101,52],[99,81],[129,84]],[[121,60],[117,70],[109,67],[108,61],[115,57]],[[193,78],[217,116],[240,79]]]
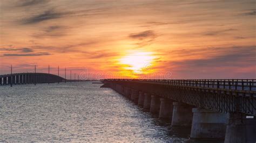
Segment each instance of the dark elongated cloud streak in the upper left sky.
[[45,11],[44,13],[41,13],[39,15],[27,18],[27,19],[23,19],[22,23],[23,24],[37,24],[40,22],[43,22],[45,20],[51,20],[51,19],[57,19],[60,18],[64,15],[64,13],[58,13],[55,12],[53,10],[48,10]]

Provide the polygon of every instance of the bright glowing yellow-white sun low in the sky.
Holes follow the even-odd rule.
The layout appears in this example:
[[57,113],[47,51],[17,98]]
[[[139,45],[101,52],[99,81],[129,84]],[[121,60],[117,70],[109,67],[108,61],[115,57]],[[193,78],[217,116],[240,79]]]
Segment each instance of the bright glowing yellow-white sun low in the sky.
[[152,52],[134,52],[121,58],[120,63],[133,73],[143,74],[151,68],[153,59]]

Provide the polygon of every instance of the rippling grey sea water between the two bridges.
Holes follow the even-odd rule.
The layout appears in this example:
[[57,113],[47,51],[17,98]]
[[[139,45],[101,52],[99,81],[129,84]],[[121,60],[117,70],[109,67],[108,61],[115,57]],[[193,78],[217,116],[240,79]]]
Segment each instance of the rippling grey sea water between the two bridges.
[[190,128],[171,127],[100,85],[0,87],[0,141],[191,142]]

